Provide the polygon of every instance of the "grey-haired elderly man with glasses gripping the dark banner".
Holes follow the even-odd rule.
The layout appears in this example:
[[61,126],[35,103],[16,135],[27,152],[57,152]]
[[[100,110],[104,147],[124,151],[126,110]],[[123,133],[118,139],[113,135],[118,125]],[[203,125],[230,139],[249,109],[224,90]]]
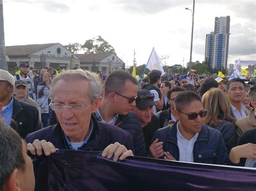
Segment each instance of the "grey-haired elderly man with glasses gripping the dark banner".
[[130,133],[111,124],[98,122],[93,113],[102,98],[99,79],[90,72],[68,70],[52,80],[50,107],[59,123],[26,137],[31,154],[50,155],[57,148],[81,151],[103,151],[114,161],[133,155]]

